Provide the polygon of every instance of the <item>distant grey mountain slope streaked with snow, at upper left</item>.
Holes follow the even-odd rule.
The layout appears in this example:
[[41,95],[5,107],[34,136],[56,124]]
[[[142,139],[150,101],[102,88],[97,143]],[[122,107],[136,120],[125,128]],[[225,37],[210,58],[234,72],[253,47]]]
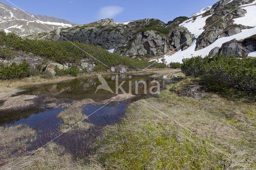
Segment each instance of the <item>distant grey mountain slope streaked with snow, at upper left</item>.
[[51,31],[49,28],[59,29],[77,25],[53,16],[28,14],[0,2],[0,30],[4,30],[6,33],[15,32],[19,36],[26,37],[40,32],[49,32]]

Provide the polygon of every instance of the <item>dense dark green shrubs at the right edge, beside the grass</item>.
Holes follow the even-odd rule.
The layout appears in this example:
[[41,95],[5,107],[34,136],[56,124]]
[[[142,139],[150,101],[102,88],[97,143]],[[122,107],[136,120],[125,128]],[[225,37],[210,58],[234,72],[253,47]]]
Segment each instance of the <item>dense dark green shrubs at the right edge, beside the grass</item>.
[[192,57],[182,64],[187,76],[204,76],[210,85],[256,92],[256,59],[236,56]]

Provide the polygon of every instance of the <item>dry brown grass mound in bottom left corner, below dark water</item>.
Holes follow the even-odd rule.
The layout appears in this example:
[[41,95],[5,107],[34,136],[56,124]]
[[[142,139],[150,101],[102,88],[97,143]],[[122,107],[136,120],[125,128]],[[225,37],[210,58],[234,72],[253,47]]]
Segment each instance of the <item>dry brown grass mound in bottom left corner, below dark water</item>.
[[[34,151],[31,151],[33,153]],[[55,169],[55,170],[89,170],[89,169],[101,169],[97,164],[91,164],[85,166],[81,160],[74,160],[72,155],[69,154],[63,147],[51,142],[45,148],[40,148],[34,155],[25,157],[19,157],[13,159],[13,162],[5,164],[1,169]],[[18,164],[17,164],[18,163]],[[14,166],[17,164],[16,166]],[[12,167],[13,166],[13,167]]]

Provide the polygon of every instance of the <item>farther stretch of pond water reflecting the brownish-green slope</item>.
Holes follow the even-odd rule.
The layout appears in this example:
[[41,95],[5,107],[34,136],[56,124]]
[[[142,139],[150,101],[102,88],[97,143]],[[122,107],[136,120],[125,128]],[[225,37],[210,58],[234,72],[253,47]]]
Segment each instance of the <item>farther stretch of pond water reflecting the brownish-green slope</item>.
[[[160,90],[165,89],[166,85],[174,83],[170,79],[160,79],[153,78],[149,75],[144,76],[132,76],[132,75],[112,75],[104,77],[108,86],[112,89],[113,92],[116,92],[116,81],[118,79],[118,85],[125,81],[122,85],[125,93],[129,93],[129,82],[131,82],[131,94],[143,94],[144,95],[144,85],[142,83],[138,84],[138,93],[136,93],[136,81],[145,81],[146,82],[146,91],[149,93],[150,87],[155,86],[156,83],[151,83],[152,81],[158,81],[160,84]],[[54,97],[58,99],[71,99],[71,100],[82,100],[82,99],[93,99],[94,101],[100,101],[104,99],[109,99],[114,97],[116,94],[113,94],[109,91],[99,89],[96,94],[96,88],[102,83],[98,80],[98,77],[93,78],[80,78],[72,81],[66,81],[62,83],[55,83],[50,85],[40,85],[36,87],[30,87],[25,89],[25,92],[21,94],[26,95],[47,95],[48,97]],[[156,89],[154,89],[156,91]],[[118,94],[123,92],[119,89]]]

